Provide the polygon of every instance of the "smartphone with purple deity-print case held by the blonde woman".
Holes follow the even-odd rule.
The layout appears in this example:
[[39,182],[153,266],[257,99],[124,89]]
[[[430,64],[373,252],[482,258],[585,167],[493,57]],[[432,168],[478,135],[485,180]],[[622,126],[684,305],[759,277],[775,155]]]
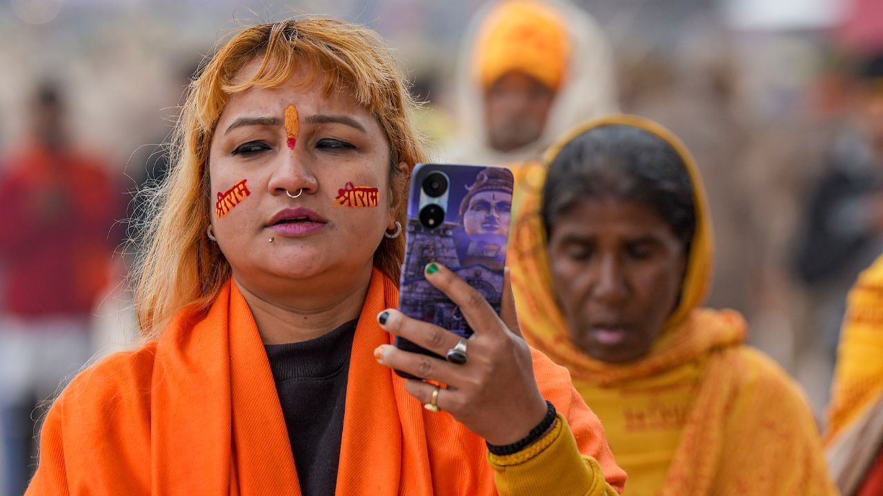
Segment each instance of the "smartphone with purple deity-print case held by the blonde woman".
[[[417,164],[408,199],[400,312],[467,339],[472,335],[457,305],[426,282],[424,267],[430,262],[454,271],[500,312],[513,183],[512,173],[502,167]],[[443,358],[397,336],[395,346]]]

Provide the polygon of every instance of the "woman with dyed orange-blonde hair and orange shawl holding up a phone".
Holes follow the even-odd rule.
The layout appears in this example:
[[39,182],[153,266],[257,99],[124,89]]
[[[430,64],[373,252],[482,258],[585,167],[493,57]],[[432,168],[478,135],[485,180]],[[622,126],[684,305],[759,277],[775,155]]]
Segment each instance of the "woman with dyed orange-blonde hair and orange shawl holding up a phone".
[[[501,319],[429,264],[474,337],[392,308],[424,159],[412,107],[358,26],[251,26],[217,51],[147,226],[145,342],[57,399],[29,494],[622,491],[597,417],[517,335],[511,305]],[[407,353],[391,334],[460,356]]]

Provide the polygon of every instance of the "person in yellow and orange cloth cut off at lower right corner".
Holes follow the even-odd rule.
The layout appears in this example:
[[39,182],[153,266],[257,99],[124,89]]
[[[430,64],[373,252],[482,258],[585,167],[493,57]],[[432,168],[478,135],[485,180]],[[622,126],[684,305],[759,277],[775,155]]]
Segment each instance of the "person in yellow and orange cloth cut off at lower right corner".
[[826,456],[844,496],[883,494],[883,256],[849,291],[827,411]]

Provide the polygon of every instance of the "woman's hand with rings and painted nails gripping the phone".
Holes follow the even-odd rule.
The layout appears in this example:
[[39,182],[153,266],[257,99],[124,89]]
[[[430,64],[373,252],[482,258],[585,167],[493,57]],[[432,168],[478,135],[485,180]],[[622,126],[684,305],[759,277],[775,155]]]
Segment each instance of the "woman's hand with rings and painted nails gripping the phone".
[[[472,432],[497,446],[525,438],[547,412],[546,401],[533,378],[531,350],[520,334],[516,334],[517,319],[508,269],[504,279],[501,310],[506,322],[457,274],[441,264],[426,266],[426,281],[460,307],[460,312],[474,330],[467,340],[465,364],[410,353],[389,344],[374,350],[374,357],[381,364],[446,384],[448,388],[439,392],[436,404]],[[392,309],[381,312],[378,319],[389,333],[442,357],[461,339],[442,327],[411,319]],[[407,383],[408,393],[424,403],[432,400],[434,389],[434,385],[421,380],[408,380]]]

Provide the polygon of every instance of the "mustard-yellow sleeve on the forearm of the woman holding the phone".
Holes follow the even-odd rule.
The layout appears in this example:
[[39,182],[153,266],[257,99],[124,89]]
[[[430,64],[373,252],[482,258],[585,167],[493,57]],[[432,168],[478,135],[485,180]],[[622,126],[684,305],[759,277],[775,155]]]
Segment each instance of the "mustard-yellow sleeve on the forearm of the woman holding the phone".
[[618,496],[605,480],[600,464],[581,455],[567,419],[558,414],[555,426],[540,440],[513,455],[487,455],[500,496]]

